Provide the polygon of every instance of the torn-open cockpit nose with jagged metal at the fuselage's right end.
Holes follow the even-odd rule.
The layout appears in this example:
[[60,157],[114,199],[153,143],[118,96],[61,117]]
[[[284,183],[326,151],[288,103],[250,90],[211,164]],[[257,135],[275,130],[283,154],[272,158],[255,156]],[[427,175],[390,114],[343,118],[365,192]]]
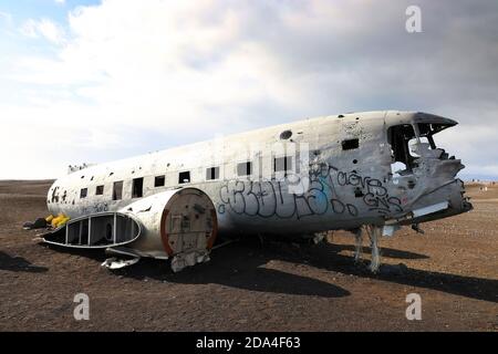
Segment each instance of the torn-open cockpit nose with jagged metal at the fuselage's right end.
[[434,135],[457,122],[414,113],[403,118],[386,116],[387,143],[392,152],[391,183],[407,214],[396,215],[388,223],[414,225],[453,216],[471,209],[464,197],[464,184],[456,178],[465,166],[436,146]]

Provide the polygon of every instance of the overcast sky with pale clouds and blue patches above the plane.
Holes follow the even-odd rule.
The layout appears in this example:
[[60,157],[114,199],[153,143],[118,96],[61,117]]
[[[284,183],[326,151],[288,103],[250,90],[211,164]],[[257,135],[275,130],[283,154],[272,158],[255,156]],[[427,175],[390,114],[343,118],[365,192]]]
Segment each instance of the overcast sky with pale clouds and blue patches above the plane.
[[0,179],[387,108],[498,178],[496,0],[0,0]]

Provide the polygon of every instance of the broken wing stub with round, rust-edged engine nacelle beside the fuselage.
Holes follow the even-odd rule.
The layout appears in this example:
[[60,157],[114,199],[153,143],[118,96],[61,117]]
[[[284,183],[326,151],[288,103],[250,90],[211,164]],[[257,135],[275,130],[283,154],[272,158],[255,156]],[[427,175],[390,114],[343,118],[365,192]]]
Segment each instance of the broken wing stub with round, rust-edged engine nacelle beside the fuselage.
[[197,188],[183,188],[139,199],[116,212],[72,219],[40,237],[61,247],[105,249],[117,256],[102,264],[108,269],[151,257],[170,259],[177,272],[208,261],[217,232],[211,199]]

